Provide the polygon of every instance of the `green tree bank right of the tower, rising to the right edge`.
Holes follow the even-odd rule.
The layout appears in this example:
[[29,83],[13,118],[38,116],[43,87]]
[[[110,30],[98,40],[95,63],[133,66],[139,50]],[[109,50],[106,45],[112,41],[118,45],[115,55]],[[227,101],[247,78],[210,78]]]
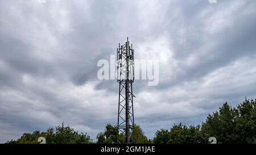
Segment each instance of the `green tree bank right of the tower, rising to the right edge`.
[[201,125],[187,127],[180,123],[170,131],[160,129],[152,142],[209,143],[209,137],[216,137],[217,143],[256,143],[256,99],[245,99],[236,107],[224,103]]

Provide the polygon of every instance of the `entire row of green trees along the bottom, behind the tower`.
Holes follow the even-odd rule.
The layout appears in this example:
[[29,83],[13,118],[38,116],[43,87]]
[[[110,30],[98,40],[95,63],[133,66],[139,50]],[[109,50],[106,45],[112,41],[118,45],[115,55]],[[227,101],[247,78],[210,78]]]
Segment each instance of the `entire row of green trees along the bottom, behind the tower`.
[[[93,141],[87,133],[61,124],[46,132],[24,133],[18,140],[7,143],[39,143],[38,138],[45,137],[46,143],[113,144],[117,141],[117,132],[117,127],[107,124],[105,131],[98,133],[97,141]],[[153,139],[148,139],[138,124],[131,131],[131,139],[137,144],[209,143],[209,137],[216,137],[217,143],[256,143],[256,99],[245,99],[236,107],[224,103],[200,125],[174,124],[170,129],[156,131]],[[119,133],[118,141],[125,143],[122,133]]]

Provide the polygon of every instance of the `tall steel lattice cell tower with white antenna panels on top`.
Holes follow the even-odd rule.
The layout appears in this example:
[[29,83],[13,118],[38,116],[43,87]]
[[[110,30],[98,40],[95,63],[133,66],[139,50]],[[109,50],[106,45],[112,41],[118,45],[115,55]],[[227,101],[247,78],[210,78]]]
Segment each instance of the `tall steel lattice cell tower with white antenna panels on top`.
[[[119,83],[117,127],[125,135],[127,144],[133,143],[131,131],[134,128],[133,82],[134,82],[134,49],[127,37],[127,42],[117,48],[117,82]],[[117,143],[118,134],[117,133]]]

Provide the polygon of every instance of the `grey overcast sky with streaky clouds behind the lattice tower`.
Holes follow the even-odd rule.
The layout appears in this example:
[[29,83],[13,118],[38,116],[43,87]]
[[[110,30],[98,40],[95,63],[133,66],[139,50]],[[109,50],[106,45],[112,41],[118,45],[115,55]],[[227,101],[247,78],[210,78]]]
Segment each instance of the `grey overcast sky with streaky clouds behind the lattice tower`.
[[0,1],[0,143],[62,122],[96,140],[117,124],[118,83],[97,78],[129,36],[159,60],[159,85],[134,82],[146,136],[200,124],[256,98],[256,1]]

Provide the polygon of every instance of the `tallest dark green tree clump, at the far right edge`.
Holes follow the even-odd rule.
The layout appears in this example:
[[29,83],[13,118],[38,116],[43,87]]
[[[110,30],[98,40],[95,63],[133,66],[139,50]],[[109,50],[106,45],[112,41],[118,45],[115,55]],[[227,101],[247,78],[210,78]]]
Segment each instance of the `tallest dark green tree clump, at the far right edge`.
[[205,137],[216,137],[218,143],[255,143],[256,100],[247,100],[230,107],[224,103],[220,110],[207,116],[201,132]]

